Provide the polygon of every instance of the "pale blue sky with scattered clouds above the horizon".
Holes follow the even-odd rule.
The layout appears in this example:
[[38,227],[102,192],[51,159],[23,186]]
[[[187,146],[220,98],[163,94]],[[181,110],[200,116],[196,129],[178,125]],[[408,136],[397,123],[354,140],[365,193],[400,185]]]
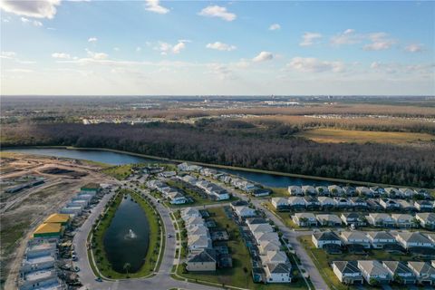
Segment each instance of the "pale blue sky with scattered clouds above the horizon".
[[432,1],[0,9],[2,95],[435,95]]

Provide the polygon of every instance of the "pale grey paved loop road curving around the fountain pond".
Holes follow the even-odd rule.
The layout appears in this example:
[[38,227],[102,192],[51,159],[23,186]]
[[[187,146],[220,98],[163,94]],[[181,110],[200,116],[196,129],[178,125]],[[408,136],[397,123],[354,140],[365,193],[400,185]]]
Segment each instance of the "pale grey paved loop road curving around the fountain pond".
[[[140,193],[145,193],[141,189],[135,189],[140,191]],[[147,194],[148,195],[148,194]],[[73,239],[73,245],[79,260],[76,262],[76,266],[79,266],[81,271],[79,272],[80,280],[82,285],[88,289],[92,290],[136,290],[136,289],[153,289],[153,290],[167,290],[169,288],[182,288],[191,290],[217,290],[217,287],[210,287],[205,285],[198,285],[195,283],[189,283],[184,281],[175,280],[170,277],[170,271],[172,266],[175,264],[175,250],[176,250],[176,233],[175,228],[172,224],[172,220],[169,217],[169,208],[165,208],[160,203],[157,203],[156,199],[148,195],[154,203],[157,205],[157,209],[160,212],[163,225],[166,229],[166,234],[171,235],[171,237],[165,236],[166,247],[164,249],[163,258],[161,261],[159,272],[150,278],[140,278],[140,279],[126,279],[121,281],[106,281],[102,282],[95,281],[96,276],[93,275],[91,266],[89,265],[87,253],[86,253],[86,237],[92,228],[92,224],[98,215],[102,213],[104,205],[113,196],[113,193],[106,195],[102,198],[100,203],[92,209],[92,213],[83,223],[80,230],[76,233]]]

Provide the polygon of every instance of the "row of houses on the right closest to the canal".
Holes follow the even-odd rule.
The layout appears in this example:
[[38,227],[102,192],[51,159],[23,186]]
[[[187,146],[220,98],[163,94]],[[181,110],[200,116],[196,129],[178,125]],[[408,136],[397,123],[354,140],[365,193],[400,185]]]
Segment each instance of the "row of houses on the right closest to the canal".
[[425,189],[395,189],[395,188],[381,188],[381,187],[340,187],[337,185],[330,185],[328,187],[319,186],[313,187],[310,185],[299,186],[289,186],[288,192],[292,196],[304,196],[304,195],[319,195],[319,196],[364,196],[369,198],[430,198],[430,193]]

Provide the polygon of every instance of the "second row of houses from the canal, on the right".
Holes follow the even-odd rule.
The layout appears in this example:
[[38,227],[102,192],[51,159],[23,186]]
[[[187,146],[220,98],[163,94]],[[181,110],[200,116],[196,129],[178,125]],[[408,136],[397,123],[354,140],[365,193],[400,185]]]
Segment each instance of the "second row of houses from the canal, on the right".
[[301,209],[366,209],[387,211],[420,211],[430,212],[435,210],[431,200],[407,201],[405,199],[391,198],[330,198],[330,197],[296,197],[271,198],[271,203],[276,210],[301,210]]

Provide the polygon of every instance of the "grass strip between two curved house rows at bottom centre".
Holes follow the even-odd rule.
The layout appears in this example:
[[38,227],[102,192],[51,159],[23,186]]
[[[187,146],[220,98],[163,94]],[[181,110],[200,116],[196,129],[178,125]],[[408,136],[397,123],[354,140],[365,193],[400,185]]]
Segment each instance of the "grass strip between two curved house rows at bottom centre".
[[[223,208],[208,208],[210,217],[213,218],[218,228],[227,228],[230,240],[227,242],[227,247],[233,258],[233,267],[218,269],[216,272],[205,273],[183,273],[183,266],[179,266],[177,274],[188,278],[192,282],[207,281],[210,283],[216,283],[218,285],[231,285],[236,287],[242,287],[254,290],[285,290],[289,289],[290,285],[263,285],[256,284],[252,280],[251,275],[251,262],[249,252],[245,243],[240,235],[236,223],[227,218]],[[247,272],[245,271],[245,268]],[[296,283],[291,284],[292,289],[306,289],[304,281],[300,279]]]

